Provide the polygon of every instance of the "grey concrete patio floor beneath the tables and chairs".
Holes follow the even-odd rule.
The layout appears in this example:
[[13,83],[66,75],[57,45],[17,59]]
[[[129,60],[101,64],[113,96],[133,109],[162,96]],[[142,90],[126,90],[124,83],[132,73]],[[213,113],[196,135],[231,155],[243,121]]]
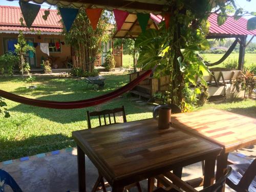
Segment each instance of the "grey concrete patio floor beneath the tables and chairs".
[[[239,152],[239,154],[230,154],[229,157],[233,161],[249,162],[256,156],[256,145],[253,148],[239,150]],[[78,191],[76,148],[38,154],[29,157],[29,160],[21,158],[12,160],[12,162],[5,161],[0,164],[0,168],[9,172],[24,191]],[[86,157],[86,170],[87,191],[90,191],[98,177],[98,172],[88,157]],[[201,175],[201,163],[197,163],[184,167],[182,179],[189,180]],[[147,191],[147,181],[140,183],[142,190]],[[11,191],[8,189],[7,187],[6,191]],[[111,191],[111,188],[108,188],[108,191]],[[137,189],[134,187],[132,191],[137,191]],[[225,191],[233,190],[226,186]]]

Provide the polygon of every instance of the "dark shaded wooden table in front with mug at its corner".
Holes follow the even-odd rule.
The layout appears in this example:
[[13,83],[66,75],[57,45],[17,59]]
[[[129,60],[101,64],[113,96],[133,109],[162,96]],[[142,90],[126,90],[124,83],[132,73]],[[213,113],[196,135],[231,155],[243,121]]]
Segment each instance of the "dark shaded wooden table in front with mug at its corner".
[[86,191],[86,154],[113,191],[177,167],[205,160],[204,186],[214,182],[222,148],[170,127],[159,130],[155,119],[118,123],[72,132],[77,143],[79,191]]

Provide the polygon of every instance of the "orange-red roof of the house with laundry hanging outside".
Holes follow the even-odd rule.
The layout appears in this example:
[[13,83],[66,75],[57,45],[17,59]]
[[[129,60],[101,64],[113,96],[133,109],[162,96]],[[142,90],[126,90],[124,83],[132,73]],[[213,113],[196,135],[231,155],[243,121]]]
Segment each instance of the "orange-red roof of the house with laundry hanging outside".
[[[57,32],[60,33],[62,30],[62,26],[59,23],[61,19],[60,15],[58,15],[57,10],[50,10],[50,15],[47,20],[42,18],[44,15],[44,11],[47,9],[40,9],[37,14],[32,29],[40,30],[41,32]],[[3,31],[29,31],[28,28],[22,27],[19,22],[19,18],[22,17],[22,12],[19,7],[12,6],[0,6],[0,30]]]

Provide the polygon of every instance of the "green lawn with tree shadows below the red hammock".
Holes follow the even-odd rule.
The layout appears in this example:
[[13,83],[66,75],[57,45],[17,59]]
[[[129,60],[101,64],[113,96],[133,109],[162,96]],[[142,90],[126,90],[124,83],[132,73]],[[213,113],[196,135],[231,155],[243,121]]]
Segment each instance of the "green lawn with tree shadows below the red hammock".
[[[1,77],[0,89],[30,98],[72,101],[108,93],[129,81],[127,74],[106,77],[105,88],[97,92],[86,89],[83,81],[60,77],[36,77],[36,82],[33,83],[37,86],[35,90],[27,89],[31,83],[26,83],[21,78]],[[0,162],[75,146],[71,132],[87,128],[87,110],[103,110],[124,105],[127,121],[151,118],[152,110],[147,105],[135,103],[133,99],[130,94],[124,94],[111,102],[76,110],[38,108],[6,100],[11,117],[0,117]],[[199,109],[204,108],[223,109],[256,118],[253,100],[209,103]],[[93,119],[92,126],[97,126],[97,121]]]

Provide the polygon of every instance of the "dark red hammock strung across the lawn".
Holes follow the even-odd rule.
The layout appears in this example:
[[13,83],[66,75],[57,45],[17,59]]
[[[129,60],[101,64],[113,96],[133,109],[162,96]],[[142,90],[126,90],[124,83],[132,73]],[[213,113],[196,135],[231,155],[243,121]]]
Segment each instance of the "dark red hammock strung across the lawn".
[[94,106],[97,104],[104,103],[111,99],[122,95],[123,93],[133,89],[140,81],[147,78],[152,73],[152,70],[148,70],[142,75],[138,76],[136,79],[131,81],[130,83],[126,84],[125,86],[105,95],[101,95],[95,98],[86,99],[86,100],[79,100],[79,101],[66,101],[66,102],[59,102],[59,101],[48,101],[48,100],[38,100],[38,99],[30,99],[22,96],[15,95],[13,93],[9,93],[3,90],[0,90],[0,97],[4,97],[6,99],[33,105],[33,106],[41,106],[42,108],[51,108],[51,109],[78,109],[78,108],[86,108],[88,106]]

